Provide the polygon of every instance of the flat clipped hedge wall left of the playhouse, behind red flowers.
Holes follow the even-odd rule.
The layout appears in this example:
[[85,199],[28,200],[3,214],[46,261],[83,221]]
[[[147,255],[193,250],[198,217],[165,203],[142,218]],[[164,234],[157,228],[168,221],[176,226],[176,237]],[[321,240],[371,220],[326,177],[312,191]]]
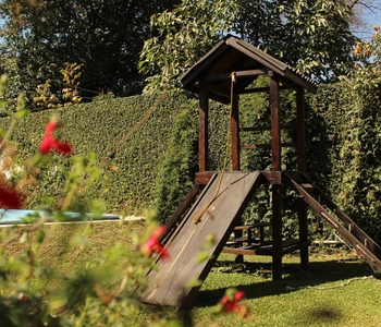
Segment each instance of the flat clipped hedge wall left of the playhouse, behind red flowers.
[[[152,113],[140,122],[149,110],[153,110]],[[118,170],[105,170],[103,179],[77,201],[85,203],[87,199],[102,198],[109,213],[139,214],[144,208],[153,206],[159,171],[163,162],[168,161],[167,152],[173,144],[171,135],[173,128],[176,128],[177,117],[187,112],[187,116],[196,118],[197,110],[197,101],[184,93],[97,100],[30,113],[17,121],[11,138],[19,145],[16,162],[20,166],[38,152],[45,125],[53,116],[59,116],[60,122],[56,135],[72,144],[74,156],[95,153],[101,165],[107,154],[120,143],[111,160]],[[136,131],[123,141],[136,124]],[[1,119],[0,125],[7,130],[10,119]],[[187,125],[195,131],[196,120],[190,119]],[[194,144],[194,140],[184,140],[185,149],[188,148],[187,142]],[[180,144],[176,146],[181,148]],[[39,167],[41,173],[36,187],[27,196],[26,207],[37,209],[45,206],[46,196],[62,197],[71,165],[70,157],[53,155],[49,165]],[[175,174],[175,171],[171,173]],[[182,195],[187,191],[177,192]],[[75,204],[71,209],[76,209]]]

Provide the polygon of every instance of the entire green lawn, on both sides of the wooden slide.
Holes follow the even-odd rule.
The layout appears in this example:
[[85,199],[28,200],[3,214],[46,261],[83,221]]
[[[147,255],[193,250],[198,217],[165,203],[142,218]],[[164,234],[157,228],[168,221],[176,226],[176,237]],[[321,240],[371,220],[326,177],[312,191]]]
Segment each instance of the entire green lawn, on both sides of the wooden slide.
[[[65,252],[60,244],[76,228],[78,227],[67,225],[51,227],[52,234],[41,254],[48,265],[71,259],[72,254]],[[125,228],[136,230],[144,226],[134,222]],[[93,246],[78,259],[85,263],[97,251],[118,241],[131,244],[130,234],[118,232],[120,230],[121,226],[118,223],[95,223],[89,237]],[[15,242],[9,250],[17,252],[22,246]],[[364,278],[371,276],[372,271],[369,265],[351,251],[314,251],[307,270],[300,268],[297,255],[285,256],[283,264],[283,279],[272,281],[270,257],[247,256],[245,265],[236,265],[233,255],[220,255],[196,296],[194,310],[187,313],[187,319],[195,327],[381,325],[381,281]],[[241,318],[236,313],[213,313],[216,304],[228,288],[245,291],[243,303],[249,308],[248,317]],[[162,310],[148,305],[139,314],[128,318],[125,326],[149,325],[158,316],[183,319],[181,313],[173,308]]]

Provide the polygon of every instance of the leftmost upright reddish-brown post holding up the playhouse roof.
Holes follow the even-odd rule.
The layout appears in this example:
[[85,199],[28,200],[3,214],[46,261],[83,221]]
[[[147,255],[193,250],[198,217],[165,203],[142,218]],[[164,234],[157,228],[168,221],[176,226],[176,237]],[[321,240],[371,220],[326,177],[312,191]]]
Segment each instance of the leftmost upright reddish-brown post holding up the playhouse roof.
[[200,88],[199,94],[199,120],[198,120],[198,171],[208,171],[208,121],[209,121],[209,98],[206,87]]

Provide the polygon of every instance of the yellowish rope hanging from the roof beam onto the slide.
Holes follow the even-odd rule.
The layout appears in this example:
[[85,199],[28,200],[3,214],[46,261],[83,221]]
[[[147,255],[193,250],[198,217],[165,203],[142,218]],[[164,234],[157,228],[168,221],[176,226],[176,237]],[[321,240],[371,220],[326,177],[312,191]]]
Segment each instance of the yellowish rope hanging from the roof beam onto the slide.
[[[234,83],[236,82],[236,74],[235,72],[232,72],[230,74],[231,76],[231,86],[230,86],[230,112],[229,112],[229,128],[228,128],[228,135],[226,135],[226,145],[225,145],[225,158],[223,160],[223,167],[222,167],[222,171],[219,175],[219,182],[217,185],[217,190],[214,192],[214,195],[212,196],[212,198],[209,201],[209,203],[205,206],[205,208],[201,210],[201,213],[199,213],[198,215],[196,215],[193,218],[193,222],[197,223],[200,221],[202,215],[208,211],[210,205],[213,203],[213,201],[217,198],[217,196],[220,193],[220,189],[222,185],[222,178],[223,174],[225,173],[225,170],[228,168],[228,160],[229,160],[229,155],[230,155],[230,148],[231,148],[231,143],[232,143],[232,113],[233,113],[233,107],[234,107]],[[211,214],[208,211],[209,216],[212,218]]]

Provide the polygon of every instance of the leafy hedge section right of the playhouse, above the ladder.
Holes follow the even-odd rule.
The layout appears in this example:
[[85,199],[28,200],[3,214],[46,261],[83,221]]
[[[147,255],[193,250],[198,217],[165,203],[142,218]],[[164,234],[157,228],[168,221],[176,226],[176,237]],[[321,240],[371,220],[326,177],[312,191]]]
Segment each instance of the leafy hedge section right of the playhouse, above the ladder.
[[322,86],[309,99],[309,173],[381,242],[381,88],[354,85],[344,81]]

